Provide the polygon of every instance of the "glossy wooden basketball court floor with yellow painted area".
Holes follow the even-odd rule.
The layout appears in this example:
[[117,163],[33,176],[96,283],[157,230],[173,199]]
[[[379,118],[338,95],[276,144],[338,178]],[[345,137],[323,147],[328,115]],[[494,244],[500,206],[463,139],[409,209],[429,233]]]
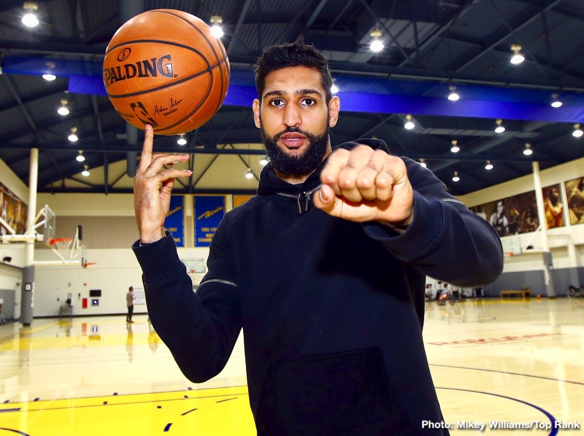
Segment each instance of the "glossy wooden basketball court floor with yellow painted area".
[[[0,436],[255,434],[241,338],[224,371],[197,385],[147,317],[134,321],[0,325]],[[584,432],[584,298],[430,302],[424,339],[444,413],[426,425],[461,436]]]

